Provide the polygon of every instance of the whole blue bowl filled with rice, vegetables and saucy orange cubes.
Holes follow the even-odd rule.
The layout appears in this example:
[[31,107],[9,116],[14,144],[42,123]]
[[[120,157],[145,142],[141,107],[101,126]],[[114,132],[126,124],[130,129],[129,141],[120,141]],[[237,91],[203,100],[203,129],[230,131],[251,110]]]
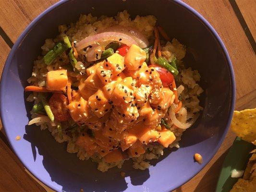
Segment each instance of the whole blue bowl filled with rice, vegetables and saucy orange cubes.
[[2,74],[3,127],[55,191],[174,190],[229,128],[229,55],[181,1],[109,3],[63,0],[29,24]]

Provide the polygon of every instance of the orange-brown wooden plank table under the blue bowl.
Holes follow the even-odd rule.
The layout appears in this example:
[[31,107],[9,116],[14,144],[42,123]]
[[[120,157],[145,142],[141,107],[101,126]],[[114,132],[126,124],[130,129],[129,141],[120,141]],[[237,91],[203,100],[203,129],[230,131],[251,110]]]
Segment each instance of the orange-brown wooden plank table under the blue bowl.
[[[0,0],[0,74],[24,28],[57,0]],[[236,109],[256,108],[256,0],[184,0],[219,33],[229,51],[236,78]],[[0,129],[2,125],[0,123]],[[213,192],[222,162],[235,135],[229,131],[219,151],[192,180],[176,192]],[[0,132],[0,191],[45,189],[25,171]]]

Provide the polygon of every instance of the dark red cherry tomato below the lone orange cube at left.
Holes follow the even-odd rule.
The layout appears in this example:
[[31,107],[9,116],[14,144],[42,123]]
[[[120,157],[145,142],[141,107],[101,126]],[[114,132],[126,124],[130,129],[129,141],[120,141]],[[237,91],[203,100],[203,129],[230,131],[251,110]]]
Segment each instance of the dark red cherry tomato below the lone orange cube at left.
[[[65,103],[65,104],[64,104]],[[70,118],[67,110],[68,99],[60,93],[54,93],[49,99],[49,106],[55,120],[65,121]]]

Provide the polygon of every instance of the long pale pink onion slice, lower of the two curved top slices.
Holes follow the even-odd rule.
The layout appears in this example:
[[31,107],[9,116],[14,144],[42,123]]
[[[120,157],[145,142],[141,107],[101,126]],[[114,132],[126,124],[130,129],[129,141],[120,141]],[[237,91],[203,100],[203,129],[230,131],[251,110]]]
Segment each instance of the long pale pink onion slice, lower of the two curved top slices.
[[138,45],[137,42],[132,37],[126,34],[118,32],[104,32],[93,36],[85,37],[83,40],[76,43],[75,47],[76,50],[79,51],[91,45],[101,45],[106,41],[117,41],[126,44],[127,46],[131,46],[132,44]]

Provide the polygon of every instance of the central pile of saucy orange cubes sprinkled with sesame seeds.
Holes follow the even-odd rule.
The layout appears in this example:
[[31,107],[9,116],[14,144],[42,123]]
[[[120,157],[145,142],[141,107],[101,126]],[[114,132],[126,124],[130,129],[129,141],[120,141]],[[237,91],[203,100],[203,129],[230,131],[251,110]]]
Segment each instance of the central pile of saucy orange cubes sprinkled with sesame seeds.
[[156,129],[175,96],[145,59],[146,52],[132,45],[124,57],[114,53],[80,79],[68,110],[93,132],[82,132],[76,142],[88,155],[117,162],[144,154],[151,142],[168,147],[175,140],[170,130]]

